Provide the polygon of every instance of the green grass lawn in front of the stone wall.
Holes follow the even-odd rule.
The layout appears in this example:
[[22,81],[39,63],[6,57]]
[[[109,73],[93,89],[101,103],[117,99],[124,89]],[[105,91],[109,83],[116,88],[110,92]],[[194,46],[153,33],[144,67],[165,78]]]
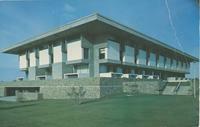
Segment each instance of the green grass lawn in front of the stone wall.
[[192,96],[114,96],[77,105],[67,100],[0,102],[0,127],[196,127]]

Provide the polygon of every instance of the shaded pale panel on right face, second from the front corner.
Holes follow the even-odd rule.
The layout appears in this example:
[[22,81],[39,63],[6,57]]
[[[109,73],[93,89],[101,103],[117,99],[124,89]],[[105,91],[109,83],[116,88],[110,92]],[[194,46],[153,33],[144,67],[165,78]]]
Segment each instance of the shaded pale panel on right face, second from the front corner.
[[127,46],[127,45],[125,46],[123,62],[135,63],[135,53],[134,53],[133,47],[130,47],[130,46]]

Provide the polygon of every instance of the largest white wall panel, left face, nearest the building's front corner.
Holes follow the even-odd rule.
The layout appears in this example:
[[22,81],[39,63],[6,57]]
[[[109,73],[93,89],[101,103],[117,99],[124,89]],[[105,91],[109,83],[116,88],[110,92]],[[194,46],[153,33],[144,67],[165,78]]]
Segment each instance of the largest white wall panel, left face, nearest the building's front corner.
[[83,58],[81,40],[67,44],[67,61],[81,60]]

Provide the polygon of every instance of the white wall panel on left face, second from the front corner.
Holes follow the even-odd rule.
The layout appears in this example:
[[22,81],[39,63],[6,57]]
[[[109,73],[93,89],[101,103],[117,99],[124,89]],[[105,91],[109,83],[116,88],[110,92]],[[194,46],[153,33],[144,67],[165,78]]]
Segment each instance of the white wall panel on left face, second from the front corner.
[[60,63],[66,62],[67,56],[66,53],[62,51],[62,45],[57,45],[53,47],[53,62]]

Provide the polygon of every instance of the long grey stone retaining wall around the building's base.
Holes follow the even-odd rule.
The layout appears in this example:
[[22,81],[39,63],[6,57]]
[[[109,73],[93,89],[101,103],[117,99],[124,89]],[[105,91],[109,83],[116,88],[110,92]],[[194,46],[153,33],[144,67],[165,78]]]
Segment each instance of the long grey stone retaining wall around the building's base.
[[73,87],[82,88],[82,98],[100,98],[123,92],[123,84],[137,83],[141,93],[158,94],[159,80],[135,80],[127,78],[78,78],[64,80],[33,80],[0,83],[0,95],[5,87],[40,87],[44,99],[72,98]]

